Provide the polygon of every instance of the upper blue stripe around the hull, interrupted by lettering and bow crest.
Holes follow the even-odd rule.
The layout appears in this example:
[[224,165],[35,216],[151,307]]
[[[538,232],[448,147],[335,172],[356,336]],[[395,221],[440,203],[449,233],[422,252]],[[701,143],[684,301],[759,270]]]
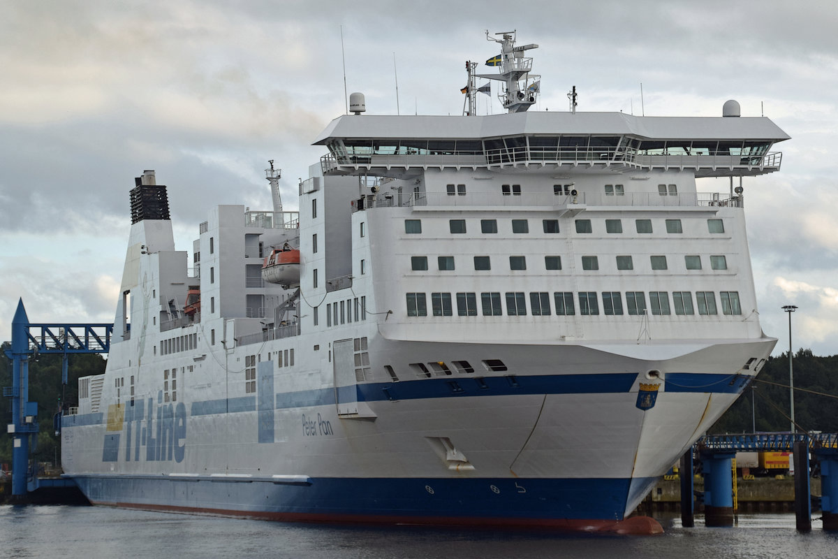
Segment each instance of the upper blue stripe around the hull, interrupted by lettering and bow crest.
[[[422,400],[430,398],[463,396],[520,396],[530,394],[608,394],[628,392],[634,386],[637,373],[605,373],[603,375],[506,375],[492,377],[453,377],[400,382],[372,382],[357,386],[344,386],[351,399],[354,389],[358,401]],[[711,373],[667,373],[666,392],[714,392],[738,394],[751,377]],[[297,407],[328,406],[335,403],[334,388],[287,392],[275,397],[277,410]],[[262,401],[259,410],[266,411]],[[190,415],[205,416],[237,411],[256,411],[256,396],[242,396],[229,400],[192,402]],[[104,419],[101,412],[80,416],[64,416],[63,427],[99,425]]]

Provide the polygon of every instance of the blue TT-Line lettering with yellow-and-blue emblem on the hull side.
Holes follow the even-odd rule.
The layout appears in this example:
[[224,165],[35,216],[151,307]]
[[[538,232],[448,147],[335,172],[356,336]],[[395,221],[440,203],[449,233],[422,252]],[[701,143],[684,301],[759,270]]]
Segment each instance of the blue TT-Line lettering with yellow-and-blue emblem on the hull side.
[[[145,421],[143,421],[145,420]],[[120,439],[125,435],[125,443]],[[120,448],[126,462],[174,460],[183,462],[186,449],[186,406],[178,401],[163,404],[163,392],[153,398],[134,401],[133,406],[111,404],[107,410],[102,462],[116,462]]]

